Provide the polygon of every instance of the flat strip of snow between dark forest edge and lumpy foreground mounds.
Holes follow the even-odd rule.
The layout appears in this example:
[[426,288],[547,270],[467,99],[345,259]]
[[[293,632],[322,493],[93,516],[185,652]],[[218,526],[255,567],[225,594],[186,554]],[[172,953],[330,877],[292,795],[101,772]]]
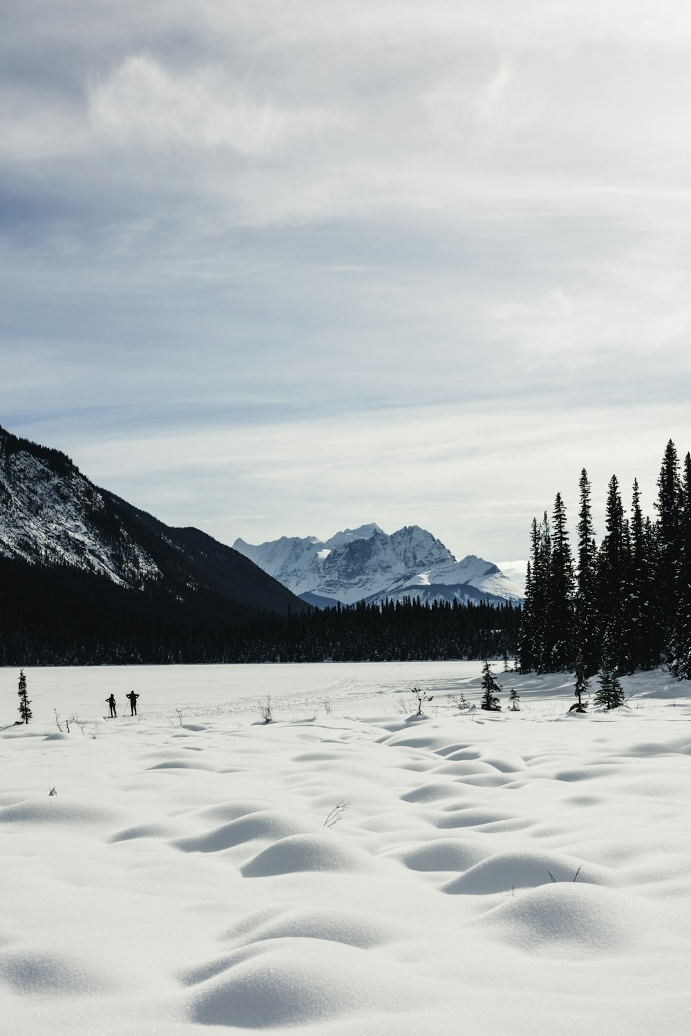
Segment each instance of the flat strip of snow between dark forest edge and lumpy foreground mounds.
[[[35,720],[53,720],[76,713],[91,718],[108,714],[106,698],[115,695],[118,715],[127,704],[125,694],[136,691],[139,711],[149,719],[165,718],[172,709],[183,708],[189,717],[221,715],[256,716],[257,701],[269,696],[276,718],[324,715],[326,708],[340,715],[358,715],[373,710],[380,714],[400,712],[399,699],[412,699],[420,687],[434,695],[428,712],[445,707],[450,694],[462,692],[479,704],[479,661],[465,662],[363,662],[304,665],[151,665],[46,667],[25,669]],[[508,707],[515,687],[523,711],[554,715],[571,704],[573,677],[536,677],[502,672],[502,663],[492,669],[505,689],[500,698]],[[0,668],[0,725],[17,718],[19,669]],[[664,703],[688,700],[687,683],[668,673],[638,673],[624,678],[632,703],[655,698]],[[594,683],[592,692],[596,690]]]

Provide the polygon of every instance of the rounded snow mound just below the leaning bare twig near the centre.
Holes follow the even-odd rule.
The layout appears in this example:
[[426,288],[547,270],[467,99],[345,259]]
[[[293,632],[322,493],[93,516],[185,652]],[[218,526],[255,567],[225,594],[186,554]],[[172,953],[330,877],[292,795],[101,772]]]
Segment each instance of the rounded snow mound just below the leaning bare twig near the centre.
[[301,870],[358,872],[373,866],[367,853],[332,835],[297,834],[269,845],[248,860],[240,871],[246,877],[268,877]]

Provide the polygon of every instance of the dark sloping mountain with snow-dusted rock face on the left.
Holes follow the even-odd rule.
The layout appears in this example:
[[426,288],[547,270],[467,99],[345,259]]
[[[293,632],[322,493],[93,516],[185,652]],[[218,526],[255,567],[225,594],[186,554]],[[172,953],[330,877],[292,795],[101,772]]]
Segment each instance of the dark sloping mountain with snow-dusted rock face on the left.
[[[98,577],[97,585],[126,592],[123,604],[127,594],[144,595],[152,616],[156,602],[159,610],[173,605],[179,620],[198,612],[231,623],[306,607],[238,551],[199,529],[165,525],[94,486],[64,454],[3,428],[0,557]],[[113,598],[106,588],[103,595]],[[126,606],[141,610],[134,601]]]

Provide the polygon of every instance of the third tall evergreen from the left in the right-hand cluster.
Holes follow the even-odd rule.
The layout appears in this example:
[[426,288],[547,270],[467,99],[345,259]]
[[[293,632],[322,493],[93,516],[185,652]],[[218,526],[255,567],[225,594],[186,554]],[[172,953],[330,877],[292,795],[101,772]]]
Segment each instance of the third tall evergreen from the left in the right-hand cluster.
[[[543,542],[545,538],[543,535]],[[567,513],[557,493],[552,513],[550,550],[546,554],[547,593],[545,611],[545,650],[541,668],[549,672],[568,669],[575,658],[574,643],[574,572]]]

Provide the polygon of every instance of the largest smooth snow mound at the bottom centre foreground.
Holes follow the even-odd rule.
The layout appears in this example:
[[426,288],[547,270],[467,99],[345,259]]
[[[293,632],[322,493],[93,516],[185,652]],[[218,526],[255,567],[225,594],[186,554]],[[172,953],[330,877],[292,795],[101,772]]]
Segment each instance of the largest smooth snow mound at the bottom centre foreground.
[[197,987],[190,1005],[195,1021],[238,1029],[307,1026],[429,1000],[411,989],[400,966],[375,962],[375,950],[308,939],[262,950]]

